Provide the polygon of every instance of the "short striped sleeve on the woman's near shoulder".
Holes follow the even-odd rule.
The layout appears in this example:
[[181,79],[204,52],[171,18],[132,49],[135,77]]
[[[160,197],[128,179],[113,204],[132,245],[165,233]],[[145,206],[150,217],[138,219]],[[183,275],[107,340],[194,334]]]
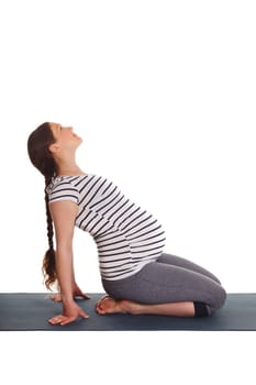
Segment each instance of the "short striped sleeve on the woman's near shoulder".
[[79,191],[69,182],[56,178],[47,188],[49,204],[56,200],[71,200],[79,204]]

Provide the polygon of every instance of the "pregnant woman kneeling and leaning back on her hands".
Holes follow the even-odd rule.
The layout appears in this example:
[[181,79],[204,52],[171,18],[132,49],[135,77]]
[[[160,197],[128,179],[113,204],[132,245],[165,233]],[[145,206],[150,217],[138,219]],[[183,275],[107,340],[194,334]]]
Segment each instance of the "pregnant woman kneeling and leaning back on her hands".
[[[76,162],[82,140],[73,128],[46,122],[27,141],[32,164],[45,178],[48,250],[43,261],[47,288],[58,284],[63,312],[49,319],[67,324],[88,315],[75,301],[75,227],[93,238],[107,295],[100,315],[210,316],[226,298],[220,280],[203,267],[164,252],[165,232],[151,212],[131,201],[108,178],[84,172]],[[54,233],[56,250],[54,246]]]

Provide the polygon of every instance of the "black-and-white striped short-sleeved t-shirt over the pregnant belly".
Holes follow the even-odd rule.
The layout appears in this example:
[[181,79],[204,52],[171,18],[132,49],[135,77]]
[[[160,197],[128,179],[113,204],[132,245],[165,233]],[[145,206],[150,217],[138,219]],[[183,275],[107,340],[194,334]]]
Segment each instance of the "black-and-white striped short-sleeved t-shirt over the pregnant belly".
[[53,178],[47,193],[49,202],[78,205],[75,226],[92,235],[103,279],[129,277],[162,254],[165,232],[159,222],[107,178],[59,176]]

